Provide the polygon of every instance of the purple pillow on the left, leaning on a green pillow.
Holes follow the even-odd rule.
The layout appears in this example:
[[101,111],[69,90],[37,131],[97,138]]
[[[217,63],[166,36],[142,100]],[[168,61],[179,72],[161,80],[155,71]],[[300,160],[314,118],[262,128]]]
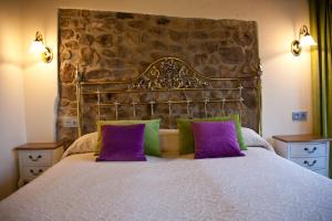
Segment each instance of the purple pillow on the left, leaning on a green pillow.
[[144,128],[145,124],[103,125],[96,161],[145,161]]

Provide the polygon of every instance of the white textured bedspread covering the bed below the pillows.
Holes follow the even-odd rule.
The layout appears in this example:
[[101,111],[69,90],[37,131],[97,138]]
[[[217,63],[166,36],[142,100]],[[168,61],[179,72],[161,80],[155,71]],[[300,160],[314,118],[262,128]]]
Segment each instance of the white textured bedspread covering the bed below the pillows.
[[0,202],[0,220],[332,220],[332,181],[263,148],[246,157],[95,162],[72,155]]

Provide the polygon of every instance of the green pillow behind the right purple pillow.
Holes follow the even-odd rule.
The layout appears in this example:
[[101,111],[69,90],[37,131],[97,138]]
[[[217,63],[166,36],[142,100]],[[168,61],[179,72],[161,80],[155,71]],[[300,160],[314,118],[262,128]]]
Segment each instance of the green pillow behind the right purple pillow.
[[177,128],[179,131],[179,154],[187,155],[195,152],[195,139],[191,131],[190,124],[191,122],[226,122],[234,120],[237,138],[241,150],[247,150],[247,146],[243,140],[242,131],[241,131],[241,123],[239,115],[231,115],[228,117],[212,117],[212,118],[197,118],[197,119],[177,119]]

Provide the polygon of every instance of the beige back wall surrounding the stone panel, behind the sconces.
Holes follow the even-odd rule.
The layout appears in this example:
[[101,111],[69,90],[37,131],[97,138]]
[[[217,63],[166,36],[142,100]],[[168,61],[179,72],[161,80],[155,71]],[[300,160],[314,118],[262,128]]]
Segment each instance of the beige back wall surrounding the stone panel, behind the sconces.
[[[263,69],[263,136],[269,138],[274,134],[311,131],[310,56],[308,52],[299,57],[290,53],[290,43],[300,25],[309,24],[307,0],[30,0],[24,2],[24,52],[28,51],[35,30],[43,31],[48,44],[56,51],[58,8],[258,21]],[[44,66],[29,65],[31,59],[25,60],[24,70],[28,140],[52,140],[56,102],[56,57],[52,64]],[[308,122],[291,120],[291,112],[299,109],[309,112]]]

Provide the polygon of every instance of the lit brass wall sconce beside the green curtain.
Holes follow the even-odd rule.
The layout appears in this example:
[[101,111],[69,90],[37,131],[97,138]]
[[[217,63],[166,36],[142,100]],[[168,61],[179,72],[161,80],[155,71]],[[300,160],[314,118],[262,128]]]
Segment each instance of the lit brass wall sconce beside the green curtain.
[[312,46],[317,45],[312,36],[308,31],[308,27],[303,25],[299,32],[299,40],[292,41],[291,52],[294,56],[299,56],[301,54],[303,46]]

